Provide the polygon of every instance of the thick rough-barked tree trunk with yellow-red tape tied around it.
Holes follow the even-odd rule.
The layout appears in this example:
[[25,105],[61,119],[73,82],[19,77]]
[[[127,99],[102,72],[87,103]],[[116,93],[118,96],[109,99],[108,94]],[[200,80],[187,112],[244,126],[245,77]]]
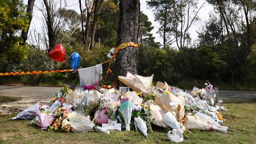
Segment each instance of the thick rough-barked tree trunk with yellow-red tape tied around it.
[[[120,0],[120,17],[117,30],[117,46],[124,42],[138,42],[139,37],[139,0]],[[116,56],[114,68],[114,86],[119,87],[121,82],[118,76],[126,76],[127,72],[137,74],[138,51],[135,47],[120,50]]]

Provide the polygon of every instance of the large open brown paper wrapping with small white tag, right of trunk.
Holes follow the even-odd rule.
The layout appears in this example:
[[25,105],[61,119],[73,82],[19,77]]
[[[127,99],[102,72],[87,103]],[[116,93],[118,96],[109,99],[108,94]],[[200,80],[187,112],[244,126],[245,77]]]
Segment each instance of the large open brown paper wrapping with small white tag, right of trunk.
[[[185,98],[183,96],[174,96],[173,94],[166,94],[162,97],[156,97],[156,102],[160,105],[165,112],[171,112],[178,122],[181,122],[185,115]],[[176,106],[170,106],[170,102],[177,102]]]

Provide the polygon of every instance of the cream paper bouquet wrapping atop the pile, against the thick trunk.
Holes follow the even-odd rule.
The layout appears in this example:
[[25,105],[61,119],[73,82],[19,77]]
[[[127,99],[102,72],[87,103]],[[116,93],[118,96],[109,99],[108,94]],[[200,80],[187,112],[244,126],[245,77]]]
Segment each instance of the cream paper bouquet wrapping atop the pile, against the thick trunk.
[[148,91],[148,88],[152,87],[152,81],[153,81],[153,76],[150,77],[143,77],[139,75],[131,76],[132,74],[127,73],[126,77],[123,76],[118,76],[118,79],[133,89],[134,91],[140,92],[140,91]]

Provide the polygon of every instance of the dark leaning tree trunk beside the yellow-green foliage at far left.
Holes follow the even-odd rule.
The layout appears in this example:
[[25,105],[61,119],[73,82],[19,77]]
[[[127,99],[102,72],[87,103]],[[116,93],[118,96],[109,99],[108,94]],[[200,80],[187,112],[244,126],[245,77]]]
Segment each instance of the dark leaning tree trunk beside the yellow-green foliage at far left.
[[35,0],[28,0],[28,6],[27,6],[27,11],[26,11],[26,15],[28,16],[28,20],[29,20],[29,26],[26,30],[22,30],[21,31],[21,35],[20,37],[22,38],[22,43],[21,45],[25,45],[25,42],[28,39],[28,30],[30,28],[30,23],[33,17],[33,7],[34,7],[34,2]]

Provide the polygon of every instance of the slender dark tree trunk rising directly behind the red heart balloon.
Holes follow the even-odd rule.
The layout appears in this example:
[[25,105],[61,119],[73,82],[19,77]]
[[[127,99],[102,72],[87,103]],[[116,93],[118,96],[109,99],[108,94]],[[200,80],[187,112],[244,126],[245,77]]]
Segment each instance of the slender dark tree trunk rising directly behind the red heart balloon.
[[48,53],[49,53],[50,50],[54,48],[56,37],[54,35],[51,7],[49,7],[47,0],[44,0],[44,3],[46,7],[46,12],[47,12],[46,24],[48,29],[48,40],[49,40]]

